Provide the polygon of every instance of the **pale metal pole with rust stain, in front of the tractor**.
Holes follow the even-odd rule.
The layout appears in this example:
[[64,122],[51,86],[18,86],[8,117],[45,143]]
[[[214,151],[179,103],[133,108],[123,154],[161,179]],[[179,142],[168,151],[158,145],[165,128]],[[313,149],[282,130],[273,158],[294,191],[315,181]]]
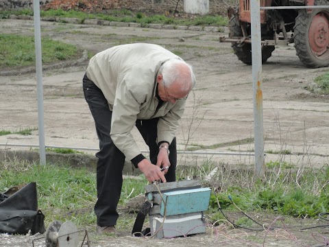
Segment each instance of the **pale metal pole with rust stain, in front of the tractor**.
[[265,156],[263,133],[262,47],[260,43],[260,1],[251,0],[250,10],[252,25],[252,83],[254,93],[255,172],[257,176],[264,176]]

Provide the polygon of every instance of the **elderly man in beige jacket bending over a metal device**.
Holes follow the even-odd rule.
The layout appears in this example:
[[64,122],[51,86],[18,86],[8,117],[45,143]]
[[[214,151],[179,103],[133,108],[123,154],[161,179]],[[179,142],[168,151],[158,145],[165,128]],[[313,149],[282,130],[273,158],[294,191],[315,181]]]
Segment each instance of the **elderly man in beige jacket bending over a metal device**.
[[[175,130],[194,84],[191,66],[159,45],[119,45],[90,59],[83,87],[99,138],[97,233],[115,232],[125,158],[150,183],[175,181]],[[134,126],[150,160],[132,137]]]

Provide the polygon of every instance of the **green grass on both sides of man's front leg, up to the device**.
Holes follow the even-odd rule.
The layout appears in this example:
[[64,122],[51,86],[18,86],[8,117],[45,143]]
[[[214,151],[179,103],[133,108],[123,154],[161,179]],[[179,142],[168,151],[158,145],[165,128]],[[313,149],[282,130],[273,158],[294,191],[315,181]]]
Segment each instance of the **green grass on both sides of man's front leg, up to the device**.
[[[0,191],[21,183],[37,183],[38,207],[45,214],[46,226],[53,220],[73,220],[79,226],[95,226],[95,172],[66,165],[37,165],[19,161],[0,163],[0,169]],[[127,196],[137,196],[146,184],[146,179],[138,182],[124,179],[119,204],[123,207]]]

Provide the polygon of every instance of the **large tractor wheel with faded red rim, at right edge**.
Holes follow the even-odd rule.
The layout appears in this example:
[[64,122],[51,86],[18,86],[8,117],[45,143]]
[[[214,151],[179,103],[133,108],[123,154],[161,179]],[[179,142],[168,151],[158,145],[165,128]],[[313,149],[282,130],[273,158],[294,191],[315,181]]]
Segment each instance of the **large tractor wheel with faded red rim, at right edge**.
[[[315,5],[329,5],[329,1],[315,0]],[[300,10],[293,30],[300,61],[309,68],[328,67],[329,9],[313,9],[310,14]]]

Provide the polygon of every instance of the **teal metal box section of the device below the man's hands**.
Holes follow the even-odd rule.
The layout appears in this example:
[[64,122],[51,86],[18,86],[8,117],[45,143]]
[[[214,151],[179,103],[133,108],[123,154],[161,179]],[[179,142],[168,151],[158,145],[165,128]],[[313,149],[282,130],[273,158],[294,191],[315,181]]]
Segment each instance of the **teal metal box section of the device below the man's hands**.
[[163,193],[160,215],[171,216],[206,211],[209,207],[210,192],[209,188],[200,188]]

